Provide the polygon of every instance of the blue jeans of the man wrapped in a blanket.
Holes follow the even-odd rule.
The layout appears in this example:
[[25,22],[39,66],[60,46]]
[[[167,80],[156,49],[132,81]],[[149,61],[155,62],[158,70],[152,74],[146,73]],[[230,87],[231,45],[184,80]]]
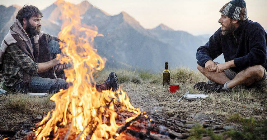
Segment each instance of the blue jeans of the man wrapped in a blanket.
[[[52,55],[53,59],[56,58],[56,55],[61,52],[59,48],[59,42],[51,41],[48,43],[50,55]],[[39,77],[38,74],[32,77],[29,86],[25,86],[23,82],[14,85],[15,90],[19,90],[21,92],[35,92],[35,93],[56,93],[60,89],[67,89],[69,87],[69,83],[62,78],[49,79]]]

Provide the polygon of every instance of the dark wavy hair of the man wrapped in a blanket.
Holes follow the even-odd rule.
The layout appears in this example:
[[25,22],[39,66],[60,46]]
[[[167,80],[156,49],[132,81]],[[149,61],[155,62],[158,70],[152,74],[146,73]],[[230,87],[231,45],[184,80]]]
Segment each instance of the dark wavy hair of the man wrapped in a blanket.
[[17,13],[16,19],[20,21],[23,25],[23,18],[26,20],[30,20],[32,16],[41,16],[43,17],[43,13],[35,6],[32,5],[24,5]]

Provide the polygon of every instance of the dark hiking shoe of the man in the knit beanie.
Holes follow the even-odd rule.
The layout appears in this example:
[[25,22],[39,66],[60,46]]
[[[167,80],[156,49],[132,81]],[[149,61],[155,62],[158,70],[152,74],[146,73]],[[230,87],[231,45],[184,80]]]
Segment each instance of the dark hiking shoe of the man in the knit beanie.
[[223,86],[224,85],[213,85],[213,84],[208,84],[206,82],[198,82],[193,86],[193,88],[197,90],[204,90],[204,91],[211,91],[211,92],[222,92]]

